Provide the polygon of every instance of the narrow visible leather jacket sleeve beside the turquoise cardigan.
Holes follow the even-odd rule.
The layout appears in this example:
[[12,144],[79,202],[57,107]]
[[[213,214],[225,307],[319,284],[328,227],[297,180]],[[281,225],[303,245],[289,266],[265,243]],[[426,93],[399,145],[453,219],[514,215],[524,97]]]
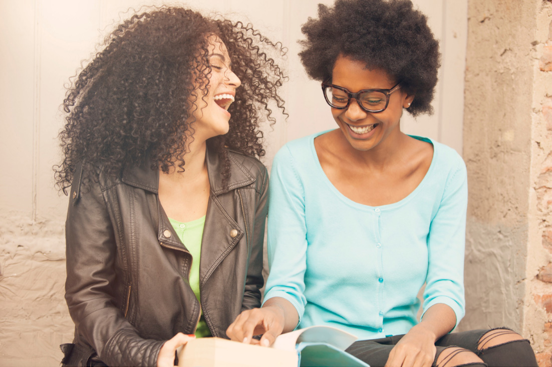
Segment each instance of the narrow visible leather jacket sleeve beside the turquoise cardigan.
[[263,287],[263,242],[264,227],[268,213],[268,171],[263,166],[262,174],[257,177],[262,182],[259,185],[256,202],[255,219],[253,223],[253,239],[251,241],[250,257],[247,267],[245,290],[243,293],[242,311],[261,307],[261,288]]

